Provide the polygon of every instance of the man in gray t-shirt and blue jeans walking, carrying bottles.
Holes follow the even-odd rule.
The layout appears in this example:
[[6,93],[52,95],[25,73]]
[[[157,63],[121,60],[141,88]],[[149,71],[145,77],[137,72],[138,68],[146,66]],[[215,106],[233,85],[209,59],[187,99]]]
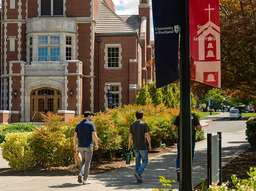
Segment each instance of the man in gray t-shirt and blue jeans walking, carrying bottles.
[[[134,176],[137,179],[137,183],[143,182],[141,174],[143,173],[146,165],[148,164],[148,150],[151,151],[151,143],[149,137],[149,128],[148,124],[144,123],[143,111],[137,111],[135,113],[137,121],[134,121],[130,126],[130,134],[128,141],[128,150],[131,149],[131,140],[133,138],[133,151],[135,154],[135,174]],[[148,140],[148,146],[146,143],[145,135]],[[141,164],[142,160],[142,164]]]

